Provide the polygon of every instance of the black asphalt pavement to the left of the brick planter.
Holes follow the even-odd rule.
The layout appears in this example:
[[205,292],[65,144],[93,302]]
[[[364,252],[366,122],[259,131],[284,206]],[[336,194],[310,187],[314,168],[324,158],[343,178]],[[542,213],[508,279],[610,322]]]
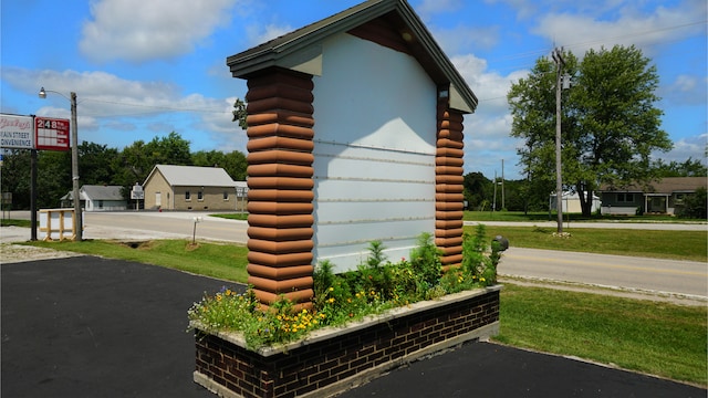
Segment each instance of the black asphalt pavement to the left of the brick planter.
[[230,283],[88,255],[0,271],[2,397],[212,397],[187,310]]

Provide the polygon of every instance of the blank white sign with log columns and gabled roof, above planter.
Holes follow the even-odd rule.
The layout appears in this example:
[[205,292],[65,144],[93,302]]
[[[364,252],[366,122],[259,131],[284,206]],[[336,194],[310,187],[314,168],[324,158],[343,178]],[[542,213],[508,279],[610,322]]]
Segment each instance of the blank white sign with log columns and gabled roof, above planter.
[[405,0],[372,0],[229,56],[248,82],[248,272],[257,297],[310,307],[379,240],[423,232],[462,259],[462,121],[477,97]]

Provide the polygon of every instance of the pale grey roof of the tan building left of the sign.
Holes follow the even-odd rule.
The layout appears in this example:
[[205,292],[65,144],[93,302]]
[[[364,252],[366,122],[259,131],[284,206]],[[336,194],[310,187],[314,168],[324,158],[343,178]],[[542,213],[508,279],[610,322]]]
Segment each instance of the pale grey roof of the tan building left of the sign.
[[217,167],[156,165],[145,179],[146,185],[159,172],[167,184],[177,187],[236,187],[228,172]]

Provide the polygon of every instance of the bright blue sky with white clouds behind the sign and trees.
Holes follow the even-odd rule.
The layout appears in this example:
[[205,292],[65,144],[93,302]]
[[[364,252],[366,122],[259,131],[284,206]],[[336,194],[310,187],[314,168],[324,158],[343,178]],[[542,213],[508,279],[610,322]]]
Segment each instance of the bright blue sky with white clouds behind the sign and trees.
[[[243,81],[226,57],[326,18],[356,0],[3,0],[0,112],[69,118],[79,98],[80,140],[122,149],[179,133],[196,150],[246,153],[231,122]],[[666,161],[705,161],[705,0],[410,0],[476,93],[465,122],[465,172],[522,178],[506,94],[540,56],[564,46],[636,45],[657,66]]]

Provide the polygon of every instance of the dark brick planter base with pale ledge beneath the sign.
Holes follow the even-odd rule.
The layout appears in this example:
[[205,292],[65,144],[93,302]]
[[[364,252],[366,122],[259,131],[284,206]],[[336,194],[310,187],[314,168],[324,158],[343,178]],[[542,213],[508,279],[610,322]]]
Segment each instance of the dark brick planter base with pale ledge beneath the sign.
[[222,397],[327,397],[425,355],[499,332],[501,286],[415,303],[257,352],[197,329],[195,381]]

